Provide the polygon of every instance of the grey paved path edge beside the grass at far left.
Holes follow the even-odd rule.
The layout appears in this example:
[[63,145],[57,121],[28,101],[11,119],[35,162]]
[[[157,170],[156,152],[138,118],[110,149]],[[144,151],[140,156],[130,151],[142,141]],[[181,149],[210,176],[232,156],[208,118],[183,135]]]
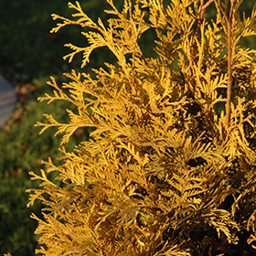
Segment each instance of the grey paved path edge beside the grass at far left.
[[0,126],[7,122],[15,107],[15,88],[0,75]]

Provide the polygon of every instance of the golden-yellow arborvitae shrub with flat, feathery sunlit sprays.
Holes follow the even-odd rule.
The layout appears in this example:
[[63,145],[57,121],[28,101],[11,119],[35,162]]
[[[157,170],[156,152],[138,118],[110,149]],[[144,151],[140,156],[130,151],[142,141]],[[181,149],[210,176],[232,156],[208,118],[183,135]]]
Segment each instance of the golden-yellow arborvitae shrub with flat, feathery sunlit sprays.
[[[77,2],[74,20],[89,46],[68,44],[82,67],[95,48],[117,64],[72,71],[40,101],[75,104],[69,123],[46,114],[65,133],[94,127],[74,152],[62,147],[59,166],[48,160],[30,204],[45,205],[37,234],[43,255],[256,255],[256,50],[240,46],[256,35],[256,8],[239,0],[107,0],[109,27],[92,21]],[[135,3],[134,3],[135,2]],[[165,5],[164,5],[165,4]],[[209,6],[216,17],[205,19]],[[138,39],[155,30],[157,58]],[[222,107],[225,105],[225,109]],[[48,180],[57,172],[61,186]]]

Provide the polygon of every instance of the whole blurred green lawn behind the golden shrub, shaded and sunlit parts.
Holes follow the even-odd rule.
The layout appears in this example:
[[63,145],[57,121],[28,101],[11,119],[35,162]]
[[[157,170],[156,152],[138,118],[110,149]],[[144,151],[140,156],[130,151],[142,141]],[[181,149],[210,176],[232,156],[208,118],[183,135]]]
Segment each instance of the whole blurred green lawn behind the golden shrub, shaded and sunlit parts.
[[[76,56],[72,63],[62,57],[69,53],[65,43],[85,46],[86,40],[80,35],[80,27],[65,27],[58,34],[49,30],[56,26],[50,14],[57,13],[69,17],[69,0],[44,1],[0,1],[0,72],[16,85],[19,102],[9,123],[0,131],[0,254],[10,252],[13,256],[35,255],[37,236],[33,235],[37,222],[29,218],[31,211],[40,215],[40,205],[27,208],[28,195],[25,190],[37,187],[32,182],[29,171],[39,173],[40,160],[58,157],[60,137],[54,137],[54,129],[38,135],[40,128],[34,123],[46,122],[44,112],[52,113],[60,122],[65,122],[68,103],[37,102],[37,97],[51,93],[46,85],[49,76],[55,76],[59,84],[64,78],[63,72],[70,69],[80,70],[81,56]],[[74,1],[72,1],[74,3]],[[123,1],[114,1],[120,7]],[[251,9],[254,1],[245,1],[242,8]],[[97,20],[98,16],[106,20],[103,9],[109,9],[104,0],[80,1],[83,10]],[[57,21],[58,22],[58,21]],[[84,31],[84,30],[83,30]],[[148,34],[142,39],[145,55],[152,51],[154,36]],[[255,40],[249,38],[245,44],[255,48]],[[98,68],[104,60],[114,62],[107,49],[95,51],[91,56],[91,67]],[[87,140],[90,131],[80,131],[67,145],[71,151],[75,144]]]

